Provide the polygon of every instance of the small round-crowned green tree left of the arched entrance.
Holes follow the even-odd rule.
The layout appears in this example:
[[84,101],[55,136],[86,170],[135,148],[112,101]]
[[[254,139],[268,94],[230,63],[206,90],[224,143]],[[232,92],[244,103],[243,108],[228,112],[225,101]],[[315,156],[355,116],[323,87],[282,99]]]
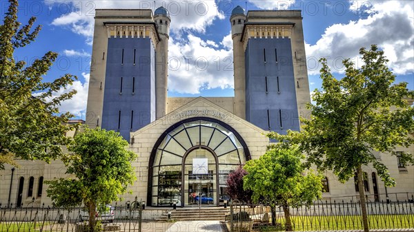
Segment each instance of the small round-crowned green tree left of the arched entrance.
[[62,157],[67,174],[75,179],[60,178],[46,182],[46,192],[57,207],[85,205],[90,231],[95,229],[95,210],[99,205],[119,200],[128,184],[136,179],[131,161],[137,156],[128,151],[128,142],[115,131],[86,129],[68,146]]

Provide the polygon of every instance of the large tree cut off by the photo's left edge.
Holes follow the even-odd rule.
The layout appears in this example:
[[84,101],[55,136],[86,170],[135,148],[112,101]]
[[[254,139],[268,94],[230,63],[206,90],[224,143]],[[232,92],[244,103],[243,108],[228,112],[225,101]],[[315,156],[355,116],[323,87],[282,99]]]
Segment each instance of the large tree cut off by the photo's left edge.
[[59,114],[58,108],[76,91],[56,96],[76,76],[66,74],[50,83],[42,82],[57,53],[47,52],[29,65],[14,60],[14,51],[34,41],[41,26],[32,30],[34,17],[21,26],[17,21],[18,2],[9,2],[0,25],[0,169],[5,163],[16,165],[14,158],[48,161],[59,157],[60,145],[69,140],[65,132],[77,126],[68,125],[72,115]]

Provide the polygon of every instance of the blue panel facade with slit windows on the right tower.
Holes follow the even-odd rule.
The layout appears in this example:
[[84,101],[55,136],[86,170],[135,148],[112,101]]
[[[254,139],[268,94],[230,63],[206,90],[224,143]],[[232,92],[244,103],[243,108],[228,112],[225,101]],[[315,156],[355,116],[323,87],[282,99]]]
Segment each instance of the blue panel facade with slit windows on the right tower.
[[299,130],[290,39],[249,39],[246,62],[246,120],[286,134]]

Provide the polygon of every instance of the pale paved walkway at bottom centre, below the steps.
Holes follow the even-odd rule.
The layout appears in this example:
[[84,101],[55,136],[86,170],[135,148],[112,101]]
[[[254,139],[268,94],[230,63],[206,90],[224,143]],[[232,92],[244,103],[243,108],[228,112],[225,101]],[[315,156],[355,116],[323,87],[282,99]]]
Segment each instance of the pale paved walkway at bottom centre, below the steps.
[[223,232],[219,221],[143,222],[142,232]]

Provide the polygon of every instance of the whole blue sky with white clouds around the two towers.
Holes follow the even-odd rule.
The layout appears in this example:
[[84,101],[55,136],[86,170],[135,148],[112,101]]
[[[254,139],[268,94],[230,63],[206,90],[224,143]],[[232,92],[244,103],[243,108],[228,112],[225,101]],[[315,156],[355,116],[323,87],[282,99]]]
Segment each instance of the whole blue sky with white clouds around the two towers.
[[[19,1],[19,21],[32,16],[42,25],[36,41],[14,53],[32,63],[49,50],[59,57],[44,81],[70,73],[78,80],[68,89],[77,94],[61,104],[61,112],[85,119],[95,9],[164,6],[169,10],[168,96],[234,96],[230,14],[247,10],[302,10],[310,91],[319,89],[320,58],[336,78],[344,76],[342,61],[361,65],[359,48],[377,44],[388,58],[396,82],[414,89],[414,1]],[[0,3],[3,18],[8,1]]]

